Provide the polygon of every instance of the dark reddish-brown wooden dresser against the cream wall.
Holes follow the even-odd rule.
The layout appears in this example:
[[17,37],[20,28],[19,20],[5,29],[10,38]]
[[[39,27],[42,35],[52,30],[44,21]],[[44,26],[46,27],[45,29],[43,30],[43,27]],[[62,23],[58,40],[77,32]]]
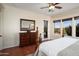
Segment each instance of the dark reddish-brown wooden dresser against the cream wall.
[[38,41],[38,31],[20,33],[20,47],[36,44]]

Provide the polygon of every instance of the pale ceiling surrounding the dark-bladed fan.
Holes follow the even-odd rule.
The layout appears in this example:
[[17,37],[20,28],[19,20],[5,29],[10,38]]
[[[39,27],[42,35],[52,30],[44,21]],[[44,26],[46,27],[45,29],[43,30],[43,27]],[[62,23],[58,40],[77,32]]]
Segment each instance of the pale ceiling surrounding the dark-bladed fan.
[[47,3],[7,3],[7,5],[50,16],[79,7],[79,3],[60,3],[58,5],[62,6],[62,9],[55,9],[54,12],[48,12],[48,8],[40,9],[40,7],[48,6]]

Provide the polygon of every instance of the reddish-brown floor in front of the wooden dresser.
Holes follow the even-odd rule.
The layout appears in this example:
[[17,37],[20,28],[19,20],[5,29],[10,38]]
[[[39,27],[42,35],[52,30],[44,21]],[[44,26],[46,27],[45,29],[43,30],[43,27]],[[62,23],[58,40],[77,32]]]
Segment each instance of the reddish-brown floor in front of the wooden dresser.
[[27,47],[12,47],[0,51],[0,56],[27,56],[35,52],[35,45]]

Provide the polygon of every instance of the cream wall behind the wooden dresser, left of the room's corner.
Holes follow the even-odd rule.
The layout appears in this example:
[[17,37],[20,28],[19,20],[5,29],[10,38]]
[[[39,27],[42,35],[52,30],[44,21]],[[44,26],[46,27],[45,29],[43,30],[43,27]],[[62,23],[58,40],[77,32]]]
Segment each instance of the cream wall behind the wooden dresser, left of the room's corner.
[[[19,32],[20,32],[20,19],[35,20],[36,27],[38,27],[39,33],[43,34],[44,23],[43,20],[48,20],[48,38],[50,38],[50,17],[34,13],[28,10],[22,10],[12,6],[4,5],[4,48],[18,46],[19,45]],[[43,35],[42,35],[43,37]]]

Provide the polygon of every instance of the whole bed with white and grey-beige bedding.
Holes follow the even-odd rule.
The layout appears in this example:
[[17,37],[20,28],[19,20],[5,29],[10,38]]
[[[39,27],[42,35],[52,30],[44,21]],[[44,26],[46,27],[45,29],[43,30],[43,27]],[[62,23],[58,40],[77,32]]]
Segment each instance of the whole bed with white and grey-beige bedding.
[[79,39],[63,37],[56,40],[41,43],[36,50],[35,56],[78,56]]

